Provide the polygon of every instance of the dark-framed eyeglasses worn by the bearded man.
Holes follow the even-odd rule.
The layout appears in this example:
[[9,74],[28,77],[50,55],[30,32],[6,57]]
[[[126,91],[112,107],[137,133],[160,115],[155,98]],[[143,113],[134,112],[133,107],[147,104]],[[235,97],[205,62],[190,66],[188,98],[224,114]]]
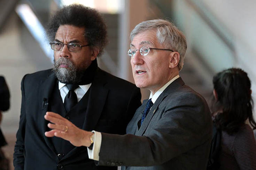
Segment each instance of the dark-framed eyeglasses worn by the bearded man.
[[74,42],[64,44],[62,42],[54,41],[54,42],[51,42],[50,45],[54,51],[61,51],[63,49],[63,46],[67,45],[68,50],[70,52],[79,52],[83,46],[89,46],[90,44],[81,45],[81,44],[74,43]]

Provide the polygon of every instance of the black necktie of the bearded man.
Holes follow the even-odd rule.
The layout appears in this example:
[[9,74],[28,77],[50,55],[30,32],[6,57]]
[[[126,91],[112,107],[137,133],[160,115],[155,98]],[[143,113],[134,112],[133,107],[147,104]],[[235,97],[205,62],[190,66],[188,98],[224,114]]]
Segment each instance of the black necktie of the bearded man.
[[74,90],[76,88],[78,88],[78,85],[74,85],[74,84],[66,84],[66,86],[68,87],[68,94],[65,96],[64,99],[64,106],[67,112],[70,111],[70,109],[72,107],[74,107],[77,104],[77,95],[74,92]]

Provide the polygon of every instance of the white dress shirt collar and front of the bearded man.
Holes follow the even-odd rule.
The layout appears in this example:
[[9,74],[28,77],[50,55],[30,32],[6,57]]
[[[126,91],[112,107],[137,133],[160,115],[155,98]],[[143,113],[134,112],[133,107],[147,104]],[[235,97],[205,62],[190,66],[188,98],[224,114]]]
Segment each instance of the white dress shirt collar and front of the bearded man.
[[[74,90],[74,92],[77,95],[77,102],[79,102],[82,99],[82,97],[85,95],[85,93],[91,87],[91,85],[92,85],[92,83],[86,84],[86,85],[79,85],[79,87]],[[59,90],[60,90],[62,102],[64,103],[65,96],[69,92],[68,87],[66,86],[65,83],[59,82]]]

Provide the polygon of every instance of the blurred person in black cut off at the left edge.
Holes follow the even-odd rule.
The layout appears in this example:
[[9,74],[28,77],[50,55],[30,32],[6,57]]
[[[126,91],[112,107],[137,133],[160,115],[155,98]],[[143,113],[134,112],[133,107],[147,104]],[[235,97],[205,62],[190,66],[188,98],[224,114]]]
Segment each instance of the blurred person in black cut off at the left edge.
[[[7,111],[10,108],[10,92],[3,76],[0,76],[0,124],[2,121],[2,112]],[[2,134],[0,128],[0,147],[7,145],[5,137]],[[8,170],[9,160],[5,157],[5,154],[0,148],[0,170]]]

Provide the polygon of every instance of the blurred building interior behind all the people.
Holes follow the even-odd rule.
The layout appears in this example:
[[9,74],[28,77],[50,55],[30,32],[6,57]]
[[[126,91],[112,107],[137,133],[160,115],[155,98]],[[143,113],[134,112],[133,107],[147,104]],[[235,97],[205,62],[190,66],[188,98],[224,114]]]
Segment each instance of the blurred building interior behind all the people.
[[[144,20],[169,19],[187,38],[180,72],[187,85],[210,102],[213,75],[240,67],[251,79],[256,101],[255,0],[0,0],[0,75],[11,93],[11,108],[3,114],[1,128],[8,142],[3,150],[10,161],[20,116],[21,79],[52,67],[53,51],[44,27],[56,9],[71,3],[98,9],[107,23],[109,44],[98,58],[103,70],[133,82],[126,55],[131,30]],[[142,100],[148,96],[142,90]],[[256,109],[256,117],[255,113]]]

